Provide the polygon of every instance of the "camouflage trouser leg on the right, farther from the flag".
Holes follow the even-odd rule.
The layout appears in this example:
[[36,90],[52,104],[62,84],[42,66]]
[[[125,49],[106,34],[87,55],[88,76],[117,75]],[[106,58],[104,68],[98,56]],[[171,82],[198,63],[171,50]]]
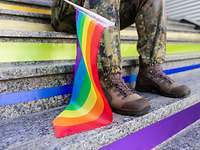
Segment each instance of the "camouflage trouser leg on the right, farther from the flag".
[[145,0],[135,18],[137,49],[147,64],[163,63],[166,54],[166,18],[164,0]]

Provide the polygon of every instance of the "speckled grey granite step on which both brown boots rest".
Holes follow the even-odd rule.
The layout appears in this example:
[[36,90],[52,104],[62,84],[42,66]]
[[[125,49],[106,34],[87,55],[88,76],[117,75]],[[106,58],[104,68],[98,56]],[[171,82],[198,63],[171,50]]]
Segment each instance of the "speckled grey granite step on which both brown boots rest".
[[172,75],[179,83],[191,87],[192,94],[188,98],[173,99],[145,93],[142,95],[148,97],[152,105],[147,115],[128,117],[113,114],[114,121],[109,126],[62,139],[54,137],[51,122],[63,107],[1,121],[0,149],[98,149],[200,102],[199,73],[200,69],[196,69]]

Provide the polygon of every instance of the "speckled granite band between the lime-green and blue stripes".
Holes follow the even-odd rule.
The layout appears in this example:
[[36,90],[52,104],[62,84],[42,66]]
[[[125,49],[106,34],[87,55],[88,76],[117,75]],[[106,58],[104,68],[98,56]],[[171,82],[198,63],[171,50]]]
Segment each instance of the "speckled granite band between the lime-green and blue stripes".
[[[200,64],[200,59],[166,62],[163,64],[163,68],[171,69],[195,64]],[[72,72],[73,66],[30,66],[30,68],[21,66],[20,70],[11,69],[1,72],[0,93],[6,94],[70,84],[73,78]],[[123,68],[124,76],[129,76],[131,73],[137,74],[137,72],[138,67],[133,64],[126,64]]]

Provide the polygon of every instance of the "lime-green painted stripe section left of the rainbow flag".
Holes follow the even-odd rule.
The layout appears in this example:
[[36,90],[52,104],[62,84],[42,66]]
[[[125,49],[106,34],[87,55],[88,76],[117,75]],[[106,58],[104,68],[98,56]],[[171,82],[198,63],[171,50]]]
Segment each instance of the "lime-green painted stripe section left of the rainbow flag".
[[74,59],[75,44],[0,43],[0,62]]

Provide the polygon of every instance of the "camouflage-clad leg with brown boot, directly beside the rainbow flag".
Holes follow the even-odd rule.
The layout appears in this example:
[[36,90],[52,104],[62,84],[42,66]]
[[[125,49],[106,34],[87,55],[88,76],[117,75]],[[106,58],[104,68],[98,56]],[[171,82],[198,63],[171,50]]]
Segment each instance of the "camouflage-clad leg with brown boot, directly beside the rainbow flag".
[[115,27],[105,31],[99,59],[102,64],[101,82],[114,112],[125,115],[142,115],[149,102],[137,95],[124,83],[121,75],[120,20],[118,0],[86,0],[85,7],[115,22]]

